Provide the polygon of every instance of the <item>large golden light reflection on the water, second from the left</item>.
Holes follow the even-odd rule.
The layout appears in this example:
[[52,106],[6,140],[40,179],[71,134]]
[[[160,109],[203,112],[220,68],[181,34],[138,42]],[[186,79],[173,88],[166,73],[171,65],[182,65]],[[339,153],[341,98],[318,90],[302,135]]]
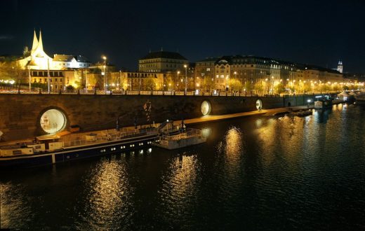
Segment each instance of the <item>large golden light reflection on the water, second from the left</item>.
[[[80,221],[76,228],[80,230],[98,230],[113,228],[119,221],[128,219],[131,206],[132,188],[128,182],[126,166],[120,162],[103,161],[86,173],[84,179],[85,197],[79,203]],[[84,209],[82,209],[84,207]]]

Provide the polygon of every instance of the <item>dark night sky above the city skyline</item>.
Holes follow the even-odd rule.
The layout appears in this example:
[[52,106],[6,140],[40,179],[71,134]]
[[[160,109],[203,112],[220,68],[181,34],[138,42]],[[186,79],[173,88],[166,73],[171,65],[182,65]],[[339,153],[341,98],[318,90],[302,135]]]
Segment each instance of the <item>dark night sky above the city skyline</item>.
[[20,54],[42,30],[48,55],[106,55],[137,69],[149,50],[190,62],[258,55],[365,72],[365,1],[0,1],[0,55]]

